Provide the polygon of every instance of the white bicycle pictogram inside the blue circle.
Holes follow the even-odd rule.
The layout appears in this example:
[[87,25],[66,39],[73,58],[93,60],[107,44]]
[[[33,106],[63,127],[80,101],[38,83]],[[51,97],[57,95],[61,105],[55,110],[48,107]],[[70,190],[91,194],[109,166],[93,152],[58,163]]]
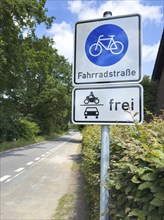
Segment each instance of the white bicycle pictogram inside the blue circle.
[[[104,35],[100,35],[98,37],[97,42],[93,43],[90,46],[89,48],[90,55],[93,57],[99,56],[102,53],[103,48],[105,50],[109,50],[114,55],[120,54],[124,49],[124,45],[120,41],[115,41],[114,37],[115,35],[109,35],[108,38],[105,38]],[[109,41],[109,43],[106,46],[106,44],[103,44],[103,42],[105,43],[107,41]]]

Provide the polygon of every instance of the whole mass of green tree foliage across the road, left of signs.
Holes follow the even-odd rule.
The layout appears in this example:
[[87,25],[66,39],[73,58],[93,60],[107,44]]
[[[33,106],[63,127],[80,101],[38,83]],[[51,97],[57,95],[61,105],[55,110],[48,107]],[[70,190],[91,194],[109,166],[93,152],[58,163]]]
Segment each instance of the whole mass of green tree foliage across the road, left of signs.
[[71,66],[52,39],[35,34],[37,25],[49,28],[54,19],[45,3],[0,2],[0,141],[21,137],[22,120],[50,133],[66,129],[70,119]]

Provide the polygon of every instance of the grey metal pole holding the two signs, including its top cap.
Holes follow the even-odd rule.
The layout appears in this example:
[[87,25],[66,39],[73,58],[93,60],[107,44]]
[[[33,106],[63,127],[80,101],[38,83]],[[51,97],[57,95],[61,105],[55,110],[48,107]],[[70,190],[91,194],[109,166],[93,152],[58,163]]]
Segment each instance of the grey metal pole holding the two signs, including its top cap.
[[[106,11],[103,17],[111,17],[112,13]],[[109,207],[109,191],[106,182],[109,178],[110,160],[110,128],[108,125],[101,126],[101,165],[100,165],[100,220],[109,220],[107,213]]]

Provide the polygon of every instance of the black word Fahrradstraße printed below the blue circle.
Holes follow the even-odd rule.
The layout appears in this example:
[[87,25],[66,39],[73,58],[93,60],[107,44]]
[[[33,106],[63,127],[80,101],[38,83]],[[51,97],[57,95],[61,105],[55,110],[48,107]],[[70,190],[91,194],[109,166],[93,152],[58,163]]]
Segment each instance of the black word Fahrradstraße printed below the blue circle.
[[89,78],[111,78],[111,77],[124,77],[124,76],[135,76],[136,71],[131,69],[121,70],[121,71],[105,71],[105,72],[78,72],[78,79],[89,79]]

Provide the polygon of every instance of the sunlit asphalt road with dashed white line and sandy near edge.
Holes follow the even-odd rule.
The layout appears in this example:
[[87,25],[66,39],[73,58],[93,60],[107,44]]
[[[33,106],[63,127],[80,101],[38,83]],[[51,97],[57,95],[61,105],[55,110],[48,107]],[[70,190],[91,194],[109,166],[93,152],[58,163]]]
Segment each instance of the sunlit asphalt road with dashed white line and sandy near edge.
[[0,154],[0,220],[50,220],[69,190],[78,133]]

